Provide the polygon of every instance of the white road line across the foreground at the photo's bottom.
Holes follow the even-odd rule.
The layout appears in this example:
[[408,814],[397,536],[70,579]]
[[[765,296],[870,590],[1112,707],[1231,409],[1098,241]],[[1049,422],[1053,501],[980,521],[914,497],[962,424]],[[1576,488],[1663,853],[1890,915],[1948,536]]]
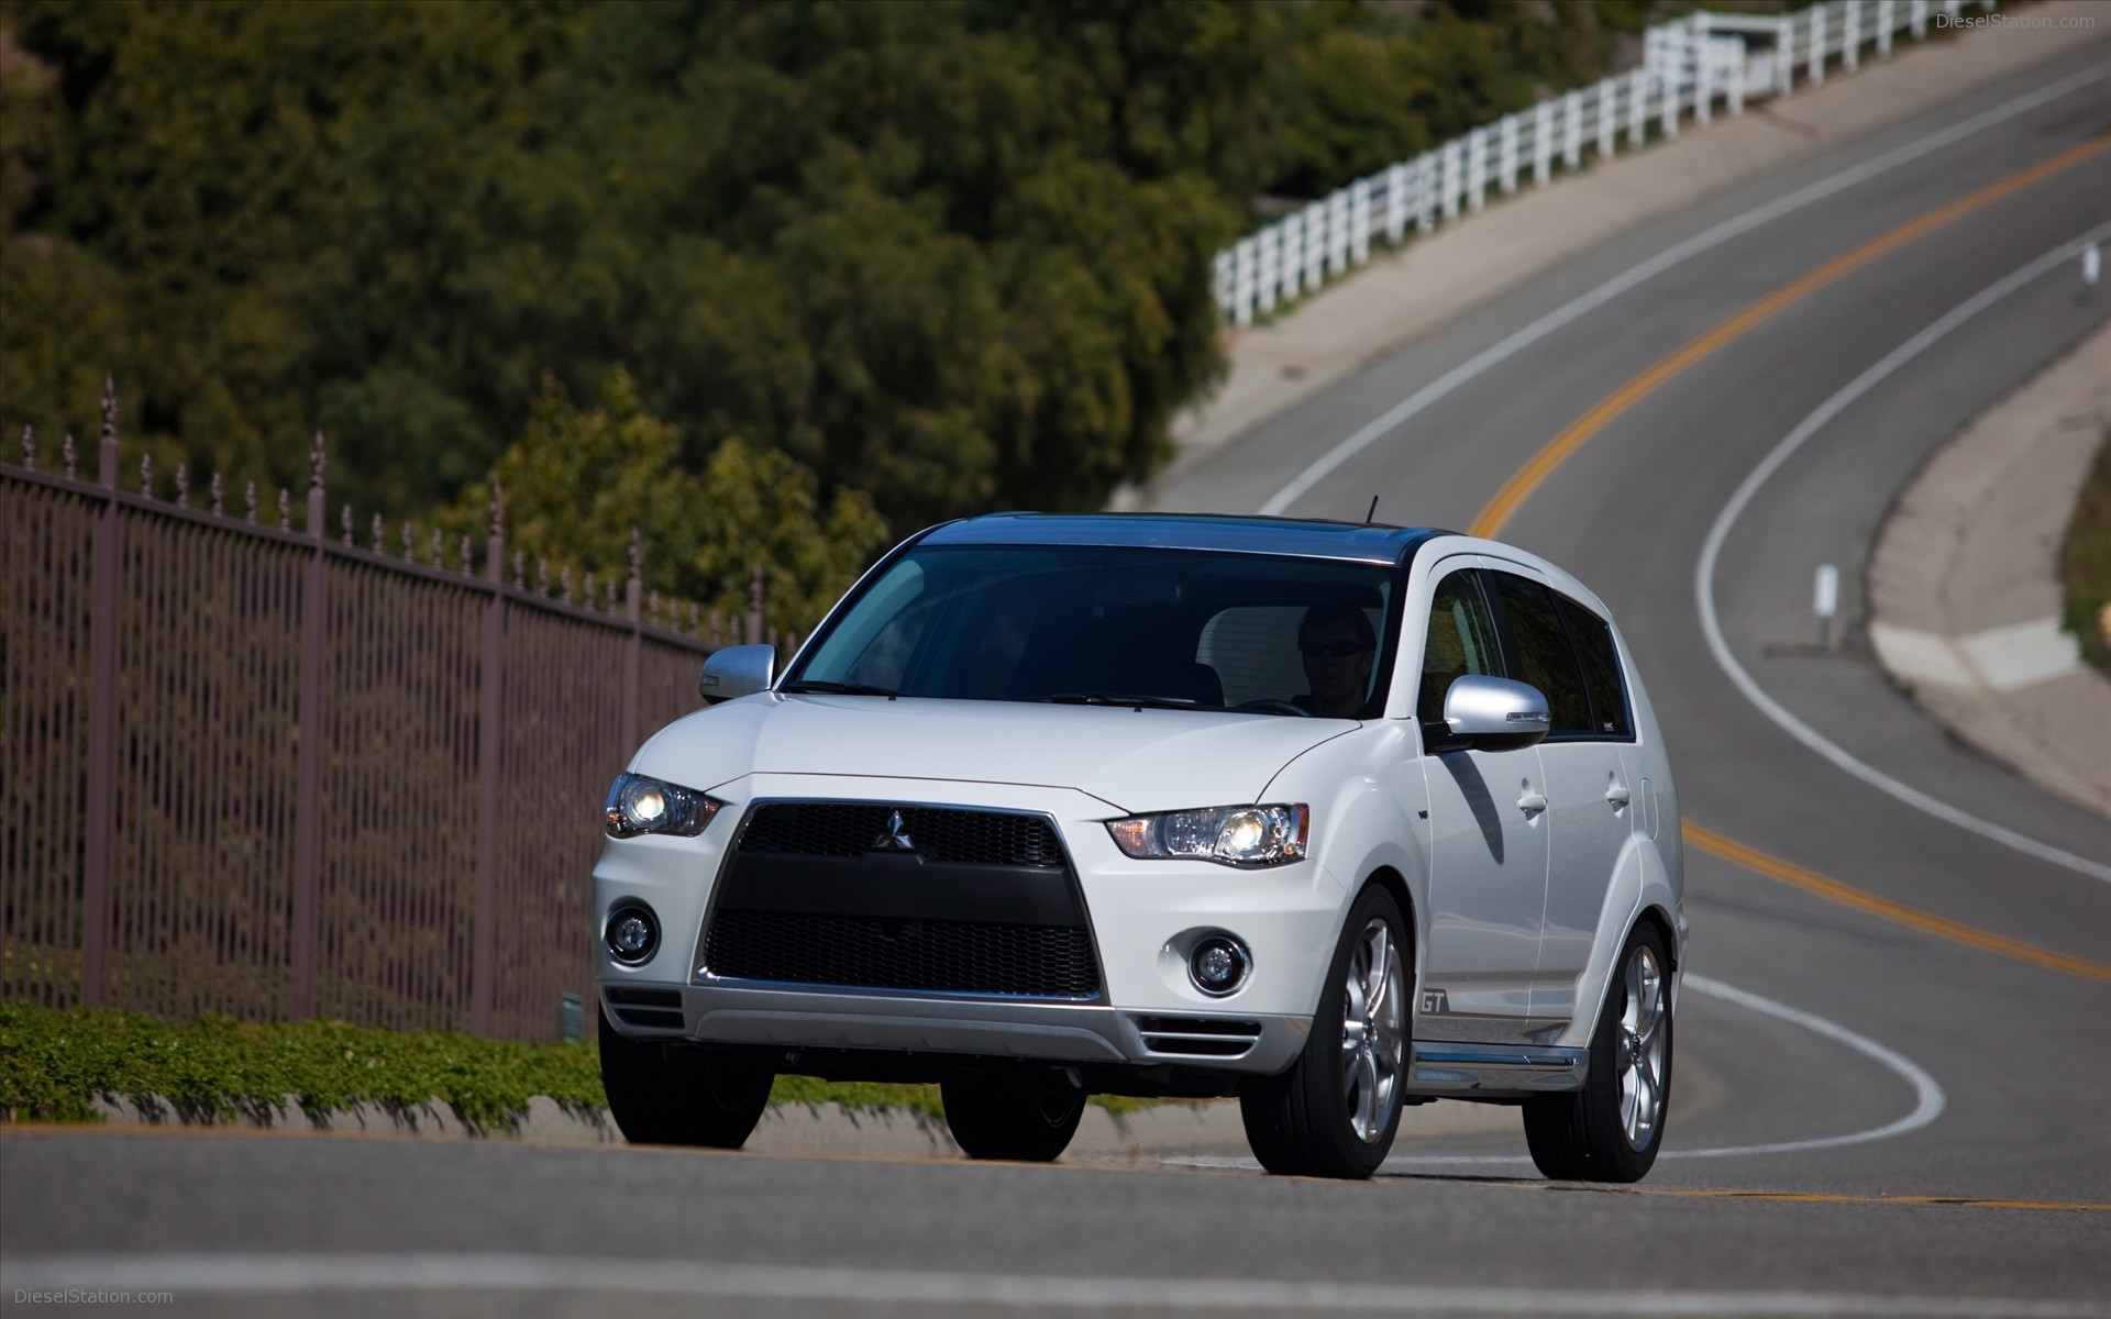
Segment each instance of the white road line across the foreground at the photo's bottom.
[[1875,1296],[1866,1292],[1655,1292],[1623,1287],[1446,1287],[1231,1277],[1060,1277],[935,1268],[709,1264],[519,1254],[125,1254],[30,1256],[0,1264],[8,1296],[103,1292],[133,1296],[287,1296],[319,1292],[551,1292],[680,1296],[692,1302],[792,1300],[1020,1306],[1034,1311],[1277,1311],[1389,1315],[1923,1315],[1927,1319],[2103,1319],[2086,1300],[2008,1296]]

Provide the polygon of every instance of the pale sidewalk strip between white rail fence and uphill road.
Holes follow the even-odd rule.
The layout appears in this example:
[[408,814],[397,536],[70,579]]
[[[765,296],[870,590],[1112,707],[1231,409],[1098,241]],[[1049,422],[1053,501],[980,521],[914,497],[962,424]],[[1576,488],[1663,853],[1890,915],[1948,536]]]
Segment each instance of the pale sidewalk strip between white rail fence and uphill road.
[[[1860,72],[1834,72],[1824,87],[1799,82],[1794,95],[1758,101],[1744,116],[1718,108],[1712,125],[1687,125],[1672,141],[1556,175],[1545,188],[1524,186],[1514,198],[1495,190],[1486,211],[1374,257],[1269,325],[1226,331],[1231,371],[1212,399],[1174,420],[1178,456],[1159,479],[1182,475],[1292,403],[1623,228],[2073,53],[2081,42],[2111,51],[2111,4],[2052,0],[2029,13],[2086,15],[2096,27],[2001,27],[1906,40],[1889,61],[1870,55]],[[1153,492],[1148,485],[1117,492],[1112,506],[1150,509]]]

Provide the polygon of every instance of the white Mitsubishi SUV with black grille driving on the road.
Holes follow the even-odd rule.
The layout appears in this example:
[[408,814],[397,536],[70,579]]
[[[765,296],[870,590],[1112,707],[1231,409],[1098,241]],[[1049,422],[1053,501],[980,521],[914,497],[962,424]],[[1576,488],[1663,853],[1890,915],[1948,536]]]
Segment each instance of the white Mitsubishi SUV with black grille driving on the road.
[[1678,794],[1619,629],[1450,532],[1003,513],[880,559],[608,794],[602,1076],[739,1146],[779,1072],[937,1083],[975,1159],[1085,1100],[1239,1100],[1366,1178],[1408,1104],[1522,1112],[1549,1178],[1663,1144]]

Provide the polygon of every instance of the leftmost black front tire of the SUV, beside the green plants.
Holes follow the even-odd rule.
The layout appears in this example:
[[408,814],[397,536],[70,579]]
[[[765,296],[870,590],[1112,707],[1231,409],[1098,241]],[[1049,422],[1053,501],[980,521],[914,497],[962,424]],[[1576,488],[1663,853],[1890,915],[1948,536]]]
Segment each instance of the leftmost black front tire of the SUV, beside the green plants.
[[754,1062],[627,1040],[602,1011],[602,1089],[631,1144],[737,1150],[762,1121],[775,1081]]

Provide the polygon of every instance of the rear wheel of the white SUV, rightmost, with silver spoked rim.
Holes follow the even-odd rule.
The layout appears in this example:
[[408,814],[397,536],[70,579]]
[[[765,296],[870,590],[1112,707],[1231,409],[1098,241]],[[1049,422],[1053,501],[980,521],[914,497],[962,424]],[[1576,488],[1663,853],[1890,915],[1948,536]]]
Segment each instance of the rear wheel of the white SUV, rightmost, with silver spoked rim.
[[[1636,1034],[1649,1019],[1655,1028]],[[1640,1182],[1663,1148],[1670,1112],[1672,967],[1663,935],[1638,924],[1604,992],[1583,1089],[1526,1100],[1524,1144],[1539,1171],[1558,1182]]]

